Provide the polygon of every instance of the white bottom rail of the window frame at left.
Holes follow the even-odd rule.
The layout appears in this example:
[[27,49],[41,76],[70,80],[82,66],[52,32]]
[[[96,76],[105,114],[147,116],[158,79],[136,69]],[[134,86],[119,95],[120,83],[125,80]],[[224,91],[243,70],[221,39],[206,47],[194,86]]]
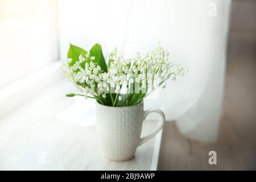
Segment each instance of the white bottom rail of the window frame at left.
[[[36,71],[31,75],[20,78],[18,81],[0,89],[0,117],[22,105],[23,102],[35,97],[43,92],[53,82],[60,80],[63,76],[59,71],[59,61],[52,63],[48,67]],[[1,121],[1,120],[0,120]]]

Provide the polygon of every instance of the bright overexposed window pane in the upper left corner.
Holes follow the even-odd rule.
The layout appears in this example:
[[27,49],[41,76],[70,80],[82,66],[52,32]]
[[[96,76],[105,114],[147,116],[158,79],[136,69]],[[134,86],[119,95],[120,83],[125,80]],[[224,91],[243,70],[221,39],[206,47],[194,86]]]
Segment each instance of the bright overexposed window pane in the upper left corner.
[[0,0],[0,87],[58,58],[56,1]]

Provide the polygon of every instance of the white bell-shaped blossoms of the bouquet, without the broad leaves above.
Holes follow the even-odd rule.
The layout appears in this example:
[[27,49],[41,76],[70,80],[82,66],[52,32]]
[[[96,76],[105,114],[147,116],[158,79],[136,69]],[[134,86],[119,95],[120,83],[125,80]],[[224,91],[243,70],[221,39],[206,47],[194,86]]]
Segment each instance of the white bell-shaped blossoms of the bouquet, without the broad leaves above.
[[[85,98],[88,94],[106,98],[107,93],[150,93],[158,86],[164,88],[168,78],[175,80],[177,75],[183,76],[187,72],[180,65],[172,65],[168,55],[160,44],[143,58],[137,53],[133,59],[124,59],[115,49],[109,56],[108,72],[102,71],[94,62],[95,57],[88,54],[80,55],[75,64],[71,64],[72,59],[63,61],[62,69]],[[121,101],[122,97],[119,96],[118,100]]]

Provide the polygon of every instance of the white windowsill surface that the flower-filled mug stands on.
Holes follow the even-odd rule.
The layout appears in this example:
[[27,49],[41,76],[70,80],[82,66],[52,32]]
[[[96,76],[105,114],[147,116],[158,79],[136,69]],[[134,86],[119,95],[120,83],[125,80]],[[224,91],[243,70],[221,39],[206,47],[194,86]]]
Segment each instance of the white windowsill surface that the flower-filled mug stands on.
[[[10,104],[10,108],[14,105],[15,108],[9,108],[10,113],[0,116],[0,169],[156,170],[162,131],[138,147],[132,160],[110,162],[104,159],[94,125],[94,103],[64,97],[72,86],[61,79],[58,68],[59,63],[55,63],[24,78],[24,85],[1,90],[5,96],[1,97],[2,101],[10,98],[17,101],[15,98],[22,94],[28,97],[18,100],[19,104]],[[35,86],[42,80],[46,82]],[[13,88],[15,92],[10,92]],[[68,115],[71,110],[72,113],[77,110],[78,117]],[[144,122],[142,135],[150,133],[157,124],[157,121]]]

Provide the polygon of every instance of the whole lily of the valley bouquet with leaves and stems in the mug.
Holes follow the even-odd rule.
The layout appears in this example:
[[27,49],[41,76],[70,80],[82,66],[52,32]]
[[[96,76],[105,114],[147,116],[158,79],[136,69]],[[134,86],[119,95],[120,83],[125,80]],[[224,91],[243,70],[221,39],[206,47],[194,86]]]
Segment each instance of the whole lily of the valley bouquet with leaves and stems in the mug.
[[188,71],[172,64],[168,55],[159,44],[144,57],[137,53],[129,59],[114,49],[106,61],[100,44],[95,44],[89,52],[70,44],[68,59],[61,68],[80,93],[66,96],[93,98],[106,106],[138,105],[159,86],[164,88],[169,78],[175,80],[177,75],[183,76]]

